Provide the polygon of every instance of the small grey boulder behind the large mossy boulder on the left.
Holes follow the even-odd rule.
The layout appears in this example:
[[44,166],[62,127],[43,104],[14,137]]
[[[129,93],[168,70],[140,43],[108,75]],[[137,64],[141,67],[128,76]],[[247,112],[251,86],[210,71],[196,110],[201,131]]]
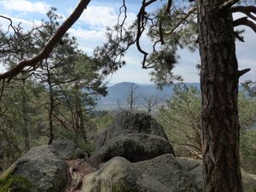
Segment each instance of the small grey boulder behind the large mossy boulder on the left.
[[58,139],[54,141],[51,146],[55,148],[65,160],[76,160],[87,156],[75,143],[67,139]]

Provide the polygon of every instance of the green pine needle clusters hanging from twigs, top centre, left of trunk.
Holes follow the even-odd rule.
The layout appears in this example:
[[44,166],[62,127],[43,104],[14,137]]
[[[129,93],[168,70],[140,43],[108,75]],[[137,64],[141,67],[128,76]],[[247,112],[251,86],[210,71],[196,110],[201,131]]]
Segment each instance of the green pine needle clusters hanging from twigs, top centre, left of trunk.
[[[95,56],[98,61],[105,63],[105,72],[112,73],[125,65],[122,57],[132,44],[137,44],[140,34],[148,31],[148,38],[154,44],[149,53],[144,53],[143,67],[153,68],[150,73],[151,80],[159,87],[172,83],[173,80],[181,80],[181,77],[172,73],[173,67],[177,64],[179,55],[178,49],[188,48],[195,51],[197,48],[197,25],[195,22],[196,13],[191,12],[184,18],[184,10],[189,7],[181,7],[180,3],[173,2],[172,9],[166,12],[166,6],[154,11],[154,14],[146,13],[141,28],[137,28],[137,20],[131,26],[118,23],[107,30],[108,42],[102,47],[97,47]],[[183,20],[183,25],[178,25]],[[159,24],[161,23],[161,27]],[[179,27],[177,27],[179,26]],[[148,30],[146,30],[148,29]],[[160,32],[161,31],[161,32]],[[171,32],[168,32],[171,31]],[[139,49],[139,48],[138,48]],[[143,53],[143,46],[140,51]]]

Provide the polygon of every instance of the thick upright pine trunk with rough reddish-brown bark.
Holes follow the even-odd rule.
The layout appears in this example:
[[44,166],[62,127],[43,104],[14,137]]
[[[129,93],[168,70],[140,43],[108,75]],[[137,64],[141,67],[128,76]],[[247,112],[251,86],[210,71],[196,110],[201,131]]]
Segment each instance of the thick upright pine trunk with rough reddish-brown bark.
[[198,1],[203,176],[207,192],[241,192],[238,64],[232,15],[224,0]]

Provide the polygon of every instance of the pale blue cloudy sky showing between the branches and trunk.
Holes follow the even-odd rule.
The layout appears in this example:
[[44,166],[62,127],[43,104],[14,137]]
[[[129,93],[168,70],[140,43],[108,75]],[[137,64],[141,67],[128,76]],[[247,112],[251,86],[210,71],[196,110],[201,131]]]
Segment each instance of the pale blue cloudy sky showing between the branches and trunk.
[[[0,15],[8,16],[15,24],[21,22],[21,26],[29,29],[33,24],[39,25],[42,18],[50,7],[55,7],[57,13],[62,15],[63,20],[73,11],[79,0],[0,0]],[[120,0],[91,0],[83,15],[68,31],[72,36],[78,39],[79,48],[91,55],[96,46],[102,45],[106,41],[105,30],[107,26],[113,26],[117,23],[119,15]],[[136,19],[140,1],[127,1],[128,23]],[[154,5],[157,6],[157,5]],[[150,7],[149,9],[155,9]],[[234,15],[239,17],[241,15]],[[0,18],[0,26],[6,27],[8,20]],[[256,34],[245,27],[245,43],[236,43],[236,55],[239,62],[239,68],[251,68],[251,72],[241,77],[241,82],[247,79],[256,80]],[[143,48],[147,49],[150,42],[143,38]],[[221,49],[221,48],[220,48]],[[200,78],[195,65],[200,61],[198,50],[194,53],[188,49],[179,50],[181,59],[178,61],[174,73],[181,75],[185,82],[199,82]],[[142,69],[141,61],[143,55],[139,54],[135,47],[132,47],[125,55],[125,67],[113,73],[108,80],[110,83],[136,82],[139,84],[152,84],[150,82],[149,70]],[[0,69],[3,67],[0,67]]]

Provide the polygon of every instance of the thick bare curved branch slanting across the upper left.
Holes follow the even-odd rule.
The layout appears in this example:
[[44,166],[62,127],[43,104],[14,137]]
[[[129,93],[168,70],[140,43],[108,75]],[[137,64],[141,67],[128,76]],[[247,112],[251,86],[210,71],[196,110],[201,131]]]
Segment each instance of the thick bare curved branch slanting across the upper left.
[[45,44],[44,49],[34,56],[32,59],[28,59],[25,61],[21,61],[16,67],[10,69],[8,72],[0,74],[0,79],[13,79],[17,74],[21,73],[25,67],[36,67],[38,62],[43,61],[47,58],[54,49],[55,44],[62,38],[62,36],[67,32],[67,30],[73,26],[74,22],[77,21],[82,15],[84,9],[86,9],[87,5],[90,3],[90,0],[80,0],[77,7],[73,10],[73,13],[69,15],[67,20],[65,20],[59,29],[55,32],[55,34],[49,39],[49,41]]

